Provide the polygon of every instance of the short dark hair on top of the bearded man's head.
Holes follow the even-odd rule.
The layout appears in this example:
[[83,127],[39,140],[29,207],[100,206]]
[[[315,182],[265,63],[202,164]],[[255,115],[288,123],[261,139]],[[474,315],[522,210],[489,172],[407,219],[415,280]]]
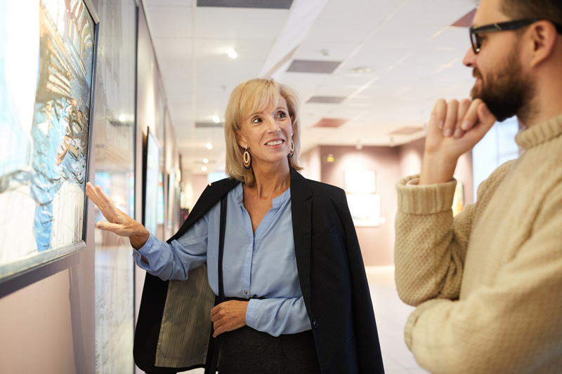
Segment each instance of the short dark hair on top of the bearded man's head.
[[502,13],[514,20],[537,18],[562,25],[561,0],[502,0]]

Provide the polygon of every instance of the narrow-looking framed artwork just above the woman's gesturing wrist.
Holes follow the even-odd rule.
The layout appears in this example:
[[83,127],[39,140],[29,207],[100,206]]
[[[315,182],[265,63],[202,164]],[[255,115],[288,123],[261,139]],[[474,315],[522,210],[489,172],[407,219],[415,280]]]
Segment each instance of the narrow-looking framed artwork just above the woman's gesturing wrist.
[[143,169],[143,218],[148,231],[157,235],[159,180],[160,180],[160,146],[150,128],[147,130],[145,141],[144,169]]

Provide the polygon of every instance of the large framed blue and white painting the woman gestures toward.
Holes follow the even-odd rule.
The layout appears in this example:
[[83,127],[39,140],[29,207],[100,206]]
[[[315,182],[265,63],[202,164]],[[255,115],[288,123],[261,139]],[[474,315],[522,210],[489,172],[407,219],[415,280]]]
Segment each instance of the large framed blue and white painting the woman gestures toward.
[[97,21],[83,0],[0,3],[0,278],[85,246]]

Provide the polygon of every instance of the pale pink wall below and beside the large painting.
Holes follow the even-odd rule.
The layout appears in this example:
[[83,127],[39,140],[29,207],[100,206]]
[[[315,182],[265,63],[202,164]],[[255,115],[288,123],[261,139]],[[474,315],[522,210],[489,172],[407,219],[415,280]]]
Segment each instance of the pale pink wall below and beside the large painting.
[[[93,131],[92,145],[95,138]],[[89,149],[92,181],[94,150]],[[90,200],[86,214],[86,248],[0,283],[1,373],[95,372],[95,219]]]

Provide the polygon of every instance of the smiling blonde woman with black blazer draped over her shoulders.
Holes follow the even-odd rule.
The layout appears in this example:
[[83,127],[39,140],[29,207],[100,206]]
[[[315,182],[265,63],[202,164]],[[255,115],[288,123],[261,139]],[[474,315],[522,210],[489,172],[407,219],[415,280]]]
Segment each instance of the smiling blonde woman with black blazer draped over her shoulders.
[[205,189],[167,242],[87,187],[114,222],[97,227],[129,236],[148,272],[135,337],[148,373],[214,371],[218,352],[220,373],[384,373],[344,191],[297,172],[298,105],[273,79],[234,89],[230,178]]

